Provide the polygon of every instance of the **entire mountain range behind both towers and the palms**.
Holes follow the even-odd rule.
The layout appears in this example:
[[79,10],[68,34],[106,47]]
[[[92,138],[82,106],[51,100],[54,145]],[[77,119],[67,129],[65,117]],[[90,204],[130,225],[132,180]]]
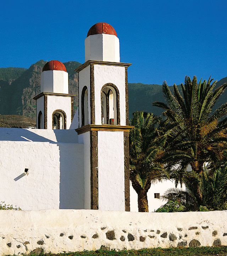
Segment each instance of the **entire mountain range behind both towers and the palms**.
[[[18,114],[35,120],[36,102],[33,97],[40,93],[40,74],[46,62],[39,60],[29,69],[0,68],[0,114]],[[78,74],[74,71],[81,63],[65,62],[68,72],[69,93],[78,94]],[[199,78],[198,78],[199,79]],[[208,79],[208,78],[207,78]],[[227,82],[227,77],[217,82],[217,86]],[[172,86],[171,86],[172,87]],[[164,101],[162,86],[157,84],[128,84],[129,118],[134,111],[148,111],[157,115],[162,110],[152,106],[154,101]],[[218,106],[225,103],[227,90],[221,96]],[[74,98],[74,111],[78,97]]]

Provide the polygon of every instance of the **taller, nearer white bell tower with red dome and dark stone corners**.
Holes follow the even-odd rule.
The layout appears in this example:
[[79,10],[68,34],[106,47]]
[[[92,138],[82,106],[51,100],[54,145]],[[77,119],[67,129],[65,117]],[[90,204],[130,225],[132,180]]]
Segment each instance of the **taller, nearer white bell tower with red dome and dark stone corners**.
[[79,142],[84,144],[85,209],[130,210],[128,79],[114,28],[96,23],[79,73]]

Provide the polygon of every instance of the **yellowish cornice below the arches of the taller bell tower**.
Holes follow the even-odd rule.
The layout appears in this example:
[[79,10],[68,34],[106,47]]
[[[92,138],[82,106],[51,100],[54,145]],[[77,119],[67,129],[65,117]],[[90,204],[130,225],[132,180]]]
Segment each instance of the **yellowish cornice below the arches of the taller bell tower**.
[[120,132],[130,132],[134,126],[115,126],[110,124],[87,124],[76,129],[78,134],[82,134],[90,131],[120,131]]

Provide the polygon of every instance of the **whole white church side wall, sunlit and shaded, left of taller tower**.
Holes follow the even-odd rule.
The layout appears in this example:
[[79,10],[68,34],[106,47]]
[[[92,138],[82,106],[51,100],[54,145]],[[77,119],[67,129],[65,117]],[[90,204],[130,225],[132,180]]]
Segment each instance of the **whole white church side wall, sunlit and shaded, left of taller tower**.
[[77,142],[74,130],[0,128],[0,201],[23,210],[83,209],[83,144]]

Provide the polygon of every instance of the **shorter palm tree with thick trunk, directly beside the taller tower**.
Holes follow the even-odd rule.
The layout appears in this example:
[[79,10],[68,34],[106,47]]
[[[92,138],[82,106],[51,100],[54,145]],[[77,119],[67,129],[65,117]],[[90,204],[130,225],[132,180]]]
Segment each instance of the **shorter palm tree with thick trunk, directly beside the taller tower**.
[[135,112],[131,125],[134,128],[129,133],[130,180],[138,194],[139,212],[148,212],[147,192],[151,182],[168,178],[168,165],[182,157],[178,151],[166,150],[166,139],[171,129],[162,117]]

